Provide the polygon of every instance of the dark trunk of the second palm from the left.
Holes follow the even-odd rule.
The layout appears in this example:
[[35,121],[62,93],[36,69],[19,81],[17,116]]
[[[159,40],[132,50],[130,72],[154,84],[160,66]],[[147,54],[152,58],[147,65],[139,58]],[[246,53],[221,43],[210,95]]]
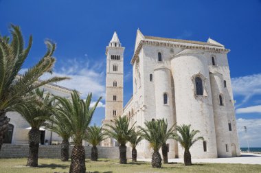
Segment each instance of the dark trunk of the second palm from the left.
[[40,130],[38,128],[32,128],[28,133],[29,137],[29,155],[27,159],[27,166],[38,166],[38,150],[40,142]]

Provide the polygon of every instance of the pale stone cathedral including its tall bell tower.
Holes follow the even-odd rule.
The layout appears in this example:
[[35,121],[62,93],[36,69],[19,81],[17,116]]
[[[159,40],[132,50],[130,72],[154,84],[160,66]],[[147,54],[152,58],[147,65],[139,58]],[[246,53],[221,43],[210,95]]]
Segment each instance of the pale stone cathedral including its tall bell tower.
[[[137,30],[133,65],[133,97],[123,106],[124,47],[116,34],[106,47],[106,108],[102,124],[128,116],[131,124],[143,126],[152,119],[173,124],[191,124],[204,141],[190,149],[193,158],[238,157],[234,98],[224,45],[144,36]],[[182,158],[183,148],[170,139],[169,158]],[[106,139],[102,146],[117,146]],[[137,146],[138,158],[150,158],[148,141]]]

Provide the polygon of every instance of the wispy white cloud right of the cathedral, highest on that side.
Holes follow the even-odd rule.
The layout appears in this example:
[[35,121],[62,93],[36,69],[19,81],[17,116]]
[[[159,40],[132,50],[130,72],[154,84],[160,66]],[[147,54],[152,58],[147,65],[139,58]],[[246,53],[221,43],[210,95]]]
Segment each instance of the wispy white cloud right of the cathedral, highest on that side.
[[253,95],[261,95],[261,73],[231,78],[231,83],[234,95],[244,97],[240,105],[247,102]]

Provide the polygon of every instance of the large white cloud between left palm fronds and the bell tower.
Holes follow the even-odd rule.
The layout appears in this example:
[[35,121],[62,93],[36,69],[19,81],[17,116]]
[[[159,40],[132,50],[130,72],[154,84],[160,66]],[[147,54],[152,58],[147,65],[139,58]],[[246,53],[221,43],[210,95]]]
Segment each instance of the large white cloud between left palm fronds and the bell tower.
[[[55,67],[54,73],[51,75],[46,73],[41,79],[50,78],[52,76],[67,76],[71,80],[63,80],[56,84],[76,89],[81,93],[82,98],[86,98],[88,93],[93,93],[93,99],[100,96],[105,97],[105,74],[104,64],[102,62],[84,62],[76,59],[67,60],[58,67]],[[26,69],[21,69],[20,73],[24,73]]]

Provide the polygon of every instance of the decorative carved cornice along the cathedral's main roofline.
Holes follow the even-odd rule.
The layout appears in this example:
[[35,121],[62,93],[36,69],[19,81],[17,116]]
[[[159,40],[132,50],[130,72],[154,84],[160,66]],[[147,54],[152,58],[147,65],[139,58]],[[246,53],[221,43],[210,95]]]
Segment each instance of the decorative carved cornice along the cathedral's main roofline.
[[161,47],[177,47],[177,48],[182,48],[182,49],[198,49],[198,50],[210,51],[210,52],[215,52],[215,53],[223,53],[223,54],[227,54],[230,51],[229,49],[225,49],[224,47],[220,47],[218,45],[214,45],[214,44],[210,45],[207,43],[205,45],[203,45],[203,44],[198,44],[196,41],[195,42],[188,41],[188,42],[183,42],[183,43],[179,43],[179,42],[170,43],[170,41],[141,40],[133,55],[133,58],[131,59],[131,65],[133,65],[135,60],[137,59],[142,45],[152,45],[152,46],[161,46]]

